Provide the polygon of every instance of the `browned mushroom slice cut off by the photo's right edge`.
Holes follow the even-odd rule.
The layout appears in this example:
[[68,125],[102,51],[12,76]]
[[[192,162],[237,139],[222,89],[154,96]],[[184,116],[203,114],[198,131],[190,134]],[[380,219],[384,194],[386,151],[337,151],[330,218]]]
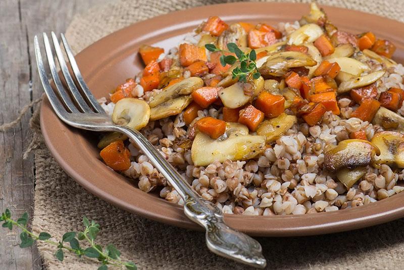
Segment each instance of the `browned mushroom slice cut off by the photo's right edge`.
[[380,149],[380,155],[372,161],[373,167],[380,168],[380,165],[387,164],[404,168],[404,134],[381,131],[373,136],[372,143]]

